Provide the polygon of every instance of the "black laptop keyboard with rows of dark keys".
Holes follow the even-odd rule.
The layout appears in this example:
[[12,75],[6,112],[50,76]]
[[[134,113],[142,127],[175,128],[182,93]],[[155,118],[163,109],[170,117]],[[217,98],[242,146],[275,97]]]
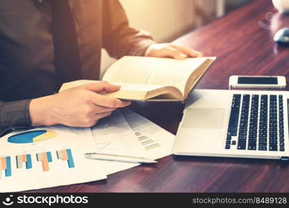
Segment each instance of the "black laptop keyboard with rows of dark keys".
[[283,96],[234,94],[225,149],[284,151]]

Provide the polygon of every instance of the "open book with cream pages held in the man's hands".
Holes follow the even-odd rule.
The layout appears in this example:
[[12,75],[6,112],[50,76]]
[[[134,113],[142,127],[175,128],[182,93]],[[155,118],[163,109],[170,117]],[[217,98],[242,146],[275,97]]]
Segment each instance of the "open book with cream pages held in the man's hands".
[[[103,80],[121,85],[121,89],[103,94],[131,101],[185,101],[214,60],[216,57],[175,60],[125,56],[114,62],[103,76]],[[60,92],[93,82],[99,81],[64,83]]]

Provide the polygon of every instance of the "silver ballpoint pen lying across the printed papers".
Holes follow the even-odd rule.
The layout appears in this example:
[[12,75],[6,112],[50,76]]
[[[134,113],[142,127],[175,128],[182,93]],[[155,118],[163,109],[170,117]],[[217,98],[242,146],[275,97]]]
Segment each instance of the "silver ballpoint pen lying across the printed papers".
[[98,160],[107,160],[107,161],[115,161],[115,162],[130,162],[130,163],[145,163],[145,164],[157,163],[157,161],[155,160],[147,159],[144,157],[110,155],[110,154],[103,154],[103,153],[85,153],[85,157],[87,159],[98,159]]

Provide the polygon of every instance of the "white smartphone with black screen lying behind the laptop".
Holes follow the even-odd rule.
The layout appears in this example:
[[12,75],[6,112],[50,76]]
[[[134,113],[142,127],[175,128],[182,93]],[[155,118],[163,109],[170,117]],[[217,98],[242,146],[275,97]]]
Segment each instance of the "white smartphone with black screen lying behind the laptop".
[[286,87],[285,76],[230,76],[231,88],[278,88]]

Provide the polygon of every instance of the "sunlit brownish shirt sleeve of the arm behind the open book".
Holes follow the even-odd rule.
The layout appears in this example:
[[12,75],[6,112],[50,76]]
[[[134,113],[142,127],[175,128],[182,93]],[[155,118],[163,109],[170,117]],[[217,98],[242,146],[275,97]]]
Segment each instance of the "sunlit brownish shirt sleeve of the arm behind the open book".
[[143,56],[148,46],[155,43],[148,32],[129,26],[119,1],[103,1],[103,47],[112,57]]

